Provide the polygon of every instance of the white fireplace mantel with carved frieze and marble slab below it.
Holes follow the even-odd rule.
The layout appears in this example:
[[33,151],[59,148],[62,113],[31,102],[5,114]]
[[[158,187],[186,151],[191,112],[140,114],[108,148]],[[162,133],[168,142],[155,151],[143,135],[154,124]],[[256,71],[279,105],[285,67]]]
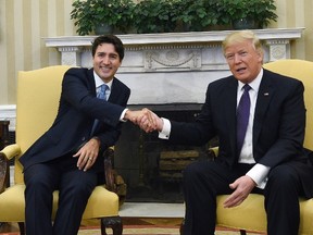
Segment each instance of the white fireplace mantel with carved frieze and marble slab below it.
[[[264,62],[289,59],[290,41],[301,38],[303,29],[255,29],[264,48]],[[229,74],[222,41],[230,32],[117,35],[125,46],[117,77],[132,89],[128,103],[202,103],[208,84]],[[91,67],[95,37],[64,36],[45,41],[60,51],[61,64]]]

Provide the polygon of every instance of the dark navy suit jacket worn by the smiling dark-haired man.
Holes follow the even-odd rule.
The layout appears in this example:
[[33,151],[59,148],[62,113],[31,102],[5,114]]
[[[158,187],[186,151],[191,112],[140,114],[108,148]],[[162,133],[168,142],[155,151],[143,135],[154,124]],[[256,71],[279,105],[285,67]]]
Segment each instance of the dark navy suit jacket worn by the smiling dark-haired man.
[[[109,100],[98,99],[93,70],[70,69],[64,74],[59,111],[52,126],[20,158],[24,170],[74,153],[92,137],[95,119],[100,120],[93,136],[100,138],[101,150],[113,146],[121,134],[120,116],[129,96],[130,89],[114,78]],[[103,171],[103,160],[97,158],[91,169]]]

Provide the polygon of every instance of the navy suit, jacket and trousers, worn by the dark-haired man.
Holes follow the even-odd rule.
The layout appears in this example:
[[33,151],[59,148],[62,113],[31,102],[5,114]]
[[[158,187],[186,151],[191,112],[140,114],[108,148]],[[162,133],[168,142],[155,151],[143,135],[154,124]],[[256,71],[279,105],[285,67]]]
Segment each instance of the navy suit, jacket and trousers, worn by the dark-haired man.
[[[113,146],[121,134],[120,116],[129,95],[130,89],[114,78],[109,102],[98,99],[92,69],[70,69],[65,73],[52,126],[20,159],[26,184],[27,234],[77,233],[98,174],[104,169],[101,152]],[[101,141],[100,153],[92,168],[84,172],[76,166],[78,158],[72,156],[92,137],[95,119],[100,121],[92,134]],[[60,200],[52,228],[51,193],[55,189],[60,190]],[[40,211],[39,218],[35,218],[35,211]]]

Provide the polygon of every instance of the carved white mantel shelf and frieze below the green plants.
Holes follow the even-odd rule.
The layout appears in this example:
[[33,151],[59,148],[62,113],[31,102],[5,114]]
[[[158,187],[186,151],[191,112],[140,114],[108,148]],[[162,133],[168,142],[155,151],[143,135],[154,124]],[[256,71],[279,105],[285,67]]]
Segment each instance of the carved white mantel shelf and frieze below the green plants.
[[[255,29],[265,51],[265,62],[290,58],[290,41],[301,38],[304,28]],[[126,48],[126,63],[120,72],[224,70],[221,45],[231,30],[118,35]],[[46,47],[61,52],[61,64],[91,66],[90,47],[96,36],[45,38]],[[141,53],[141,54],[139,54]],[[211,60],[203,61],[205,53]],[[132,58],[130,61],[127,61]],[[134,61],[141,57],[141,63]],[[208,57],[208,55],[206,55]]]

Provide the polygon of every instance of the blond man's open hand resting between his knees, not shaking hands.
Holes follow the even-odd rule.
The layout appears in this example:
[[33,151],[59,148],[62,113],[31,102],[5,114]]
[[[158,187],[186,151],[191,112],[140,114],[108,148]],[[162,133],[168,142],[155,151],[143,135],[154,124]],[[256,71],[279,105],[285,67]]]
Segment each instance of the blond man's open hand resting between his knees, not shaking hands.
[[237,178],[229,185],[234,193],[224,201],[225,208],[233,208],[239,206],[256,186],[254,181],[248,175]]

